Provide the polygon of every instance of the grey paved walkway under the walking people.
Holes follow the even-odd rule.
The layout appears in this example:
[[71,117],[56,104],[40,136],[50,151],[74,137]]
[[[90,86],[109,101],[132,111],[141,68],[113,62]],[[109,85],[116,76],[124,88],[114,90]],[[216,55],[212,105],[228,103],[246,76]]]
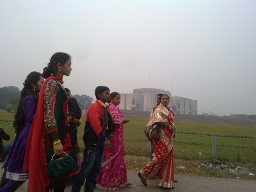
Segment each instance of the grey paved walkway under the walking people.
[[[3,165],[3,164],[0,164]],[[2,175],[3,169],[0,170]],[[141,183],[136,172],[128,172],[128,180],[132,186],[119,188],[118,192],[157,192],[157,191],[256,191],[256,181],[239,180],[239,179],[220,179],[212,177],[190,177],[185,175],[175,175],[175,179],[179,182],[174,183],[175,189],[163,190],[157,186],[154,180],[148,180],[148,186],[145,187]],[[25,182],[17,191],[27,191],[28,181]],[[65,189],[65,192],[71,191],[71,188]],[[83,188],[82,190],[83,191]],[[103,192],[100,189],[95,189],[95,192]]]

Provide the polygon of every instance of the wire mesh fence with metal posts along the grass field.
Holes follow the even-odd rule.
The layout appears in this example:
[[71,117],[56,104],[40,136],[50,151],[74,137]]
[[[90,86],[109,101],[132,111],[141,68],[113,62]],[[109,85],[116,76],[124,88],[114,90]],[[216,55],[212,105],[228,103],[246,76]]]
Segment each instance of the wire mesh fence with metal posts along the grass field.
[[[10,135],[12,143],[15,131],[12,122],[0,122],[0,127]],[[84,127],[79,127],[77,140],[84,148]],[[230,138],[221,136],[204,136],[196,134],[176,133],[173,138],[174,157],[179,159],[207,160],[218,159],[230,163],[256,163],[256,140],[247,138]],[[125,154],[150,156],[150,143],[143,131],[124,130]]]

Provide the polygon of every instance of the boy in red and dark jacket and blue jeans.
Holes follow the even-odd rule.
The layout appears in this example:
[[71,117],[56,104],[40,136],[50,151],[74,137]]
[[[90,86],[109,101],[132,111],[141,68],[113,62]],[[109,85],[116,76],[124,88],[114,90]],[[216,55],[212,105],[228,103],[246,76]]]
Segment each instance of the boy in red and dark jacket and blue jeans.
[[81,170],[72,186],[72,192],[79,192],[84,184],[84,191],[93,191],[96,185],[96,178],[100,174],[104,147],[111,150],[109,140],[113,137],[115,124],[109,114],[106,102],[110,99],[109,88],[97,86],[95,89],[96,102],[90,106],[86,114],[84,127],[84,157]]

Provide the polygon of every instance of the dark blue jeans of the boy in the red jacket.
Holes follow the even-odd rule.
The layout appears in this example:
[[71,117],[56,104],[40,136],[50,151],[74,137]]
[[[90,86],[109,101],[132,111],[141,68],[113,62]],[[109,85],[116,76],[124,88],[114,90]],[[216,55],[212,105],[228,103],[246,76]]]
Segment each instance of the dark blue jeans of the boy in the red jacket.
[[77,175],[77,180],[72,186],[72,192],[79,192],[84,184],[84,192],[92,192],[96,185],[96,178],[100,174],[104,145],[99,141],[96,147],[86,147],[81,170]]

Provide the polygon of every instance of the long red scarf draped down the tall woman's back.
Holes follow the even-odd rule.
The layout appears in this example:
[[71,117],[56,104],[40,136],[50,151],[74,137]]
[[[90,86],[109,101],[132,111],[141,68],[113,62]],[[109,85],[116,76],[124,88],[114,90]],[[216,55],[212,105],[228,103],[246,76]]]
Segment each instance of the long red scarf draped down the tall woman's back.
[[[50,138],[45,132],[44,124],[44,88],[49,79],[55,79],[56,81],[63,83],[62,77],[51,76],[45,79],[40,90],[36,115],[31,124],[28,136],[23,166],[23,172],[29,172],[28,191],[31,192],[45,192],[45,187],[50,184],[50,180],[47,177],[45,162]],[[45,154],[43,147],[45,147]]]

